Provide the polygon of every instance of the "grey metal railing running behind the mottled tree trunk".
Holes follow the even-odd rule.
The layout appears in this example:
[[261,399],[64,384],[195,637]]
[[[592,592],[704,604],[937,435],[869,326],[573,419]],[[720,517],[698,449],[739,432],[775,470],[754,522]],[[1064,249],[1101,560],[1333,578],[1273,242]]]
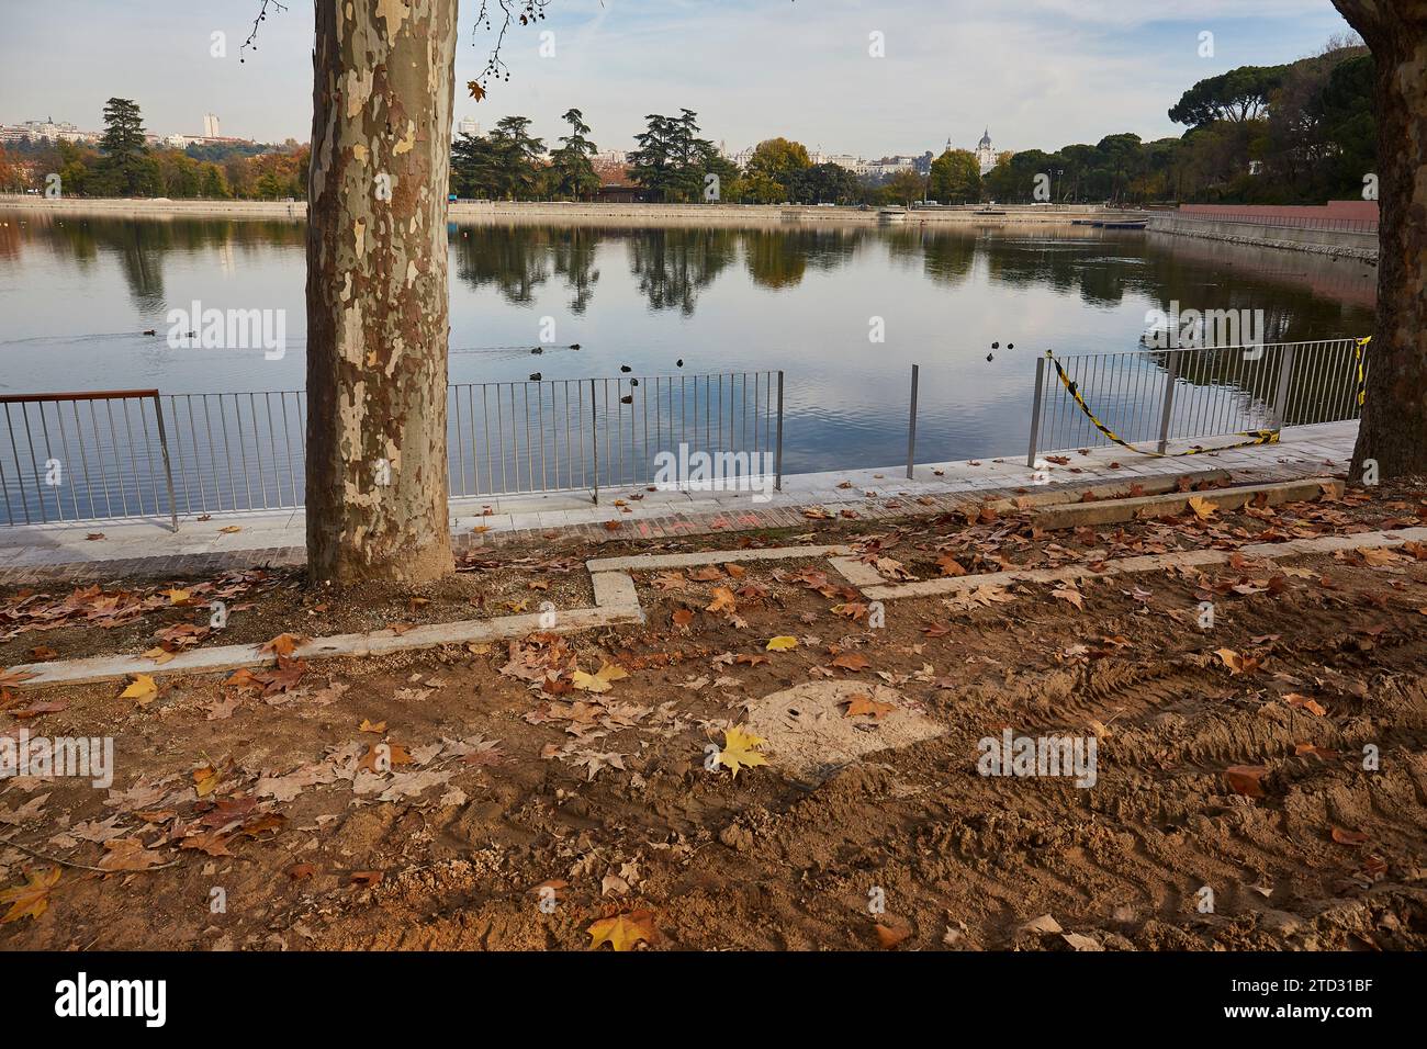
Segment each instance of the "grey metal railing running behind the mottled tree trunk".
[[[4,524],[304,504],[300,390],[0,397]],[[654,484],[688,454],[743,457],[782,487],[783,373],[447,387],[452,500]],[[681,458],[681,448],[685,455]],[[752,467],[752,470],[749,470]],[[679,475],[672,477],[675,485]]]

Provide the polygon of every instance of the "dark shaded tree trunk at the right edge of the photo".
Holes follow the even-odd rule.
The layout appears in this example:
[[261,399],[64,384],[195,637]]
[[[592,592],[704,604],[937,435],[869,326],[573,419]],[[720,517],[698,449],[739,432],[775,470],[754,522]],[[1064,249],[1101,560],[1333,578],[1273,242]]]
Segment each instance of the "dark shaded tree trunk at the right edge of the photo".
[[1350,478],[1368,460],[1381,478],[1427,474],[1427,3],[1334,6],[1377,67],[1377,330]]

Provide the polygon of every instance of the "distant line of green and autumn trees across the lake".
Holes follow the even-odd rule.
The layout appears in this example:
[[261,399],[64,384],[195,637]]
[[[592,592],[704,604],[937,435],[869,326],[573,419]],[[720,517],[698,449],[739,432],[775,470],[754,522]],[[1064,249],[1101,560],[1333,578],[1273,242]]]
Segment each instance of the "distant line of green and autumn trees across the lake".
[[[1330,40],[1320,54],[1284,66],[1241,66],[1200,80],[1170,107],[1187,130],[1143,141],[1106,136],[1053,153],[1003,153],[985,176],[969,150],[946,150],[918,170],[859,177],[813,164],[802,143],[769,138],[739,167],[704,138],[698,114],[652,113],[635,136],[626,173],[654,201],[746,204],[942,204],[1152,201],[1303,204],[1360,196],[1377,167],[1373,57],[1357,40]],[[451,193],[482,200],[595,200],[605,177],[578,108],[547,151],[528,117],[499,120],[485,136],[451,146]],[[67,196],[238,197],[307,196],[308,147],[146,144],[138,107],[110,98],[98,147],[17,143],[0,148],[0,190],[44,188],[57,173]],[[930,154],[926,154],[930,157]],[[923,161],[925,163],[925,161]]]

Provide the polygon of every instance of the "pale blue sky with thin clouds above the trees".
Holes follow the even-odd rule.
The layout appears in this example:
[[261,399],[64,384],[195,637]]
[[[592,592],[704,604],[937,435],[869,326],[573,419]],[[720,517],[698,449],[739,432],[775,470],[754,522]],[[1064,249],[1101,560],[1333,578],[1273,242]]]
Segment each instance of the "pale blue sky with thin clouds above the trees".
[[[201,134],[215,113],[223,134],[305,141],[310,3],[270,14],[240,63],[260,0],[4,0],[0,124],[100,130],[118,96],[158,134]],[[482,131],[521,114],[554,140],[574,106],[622,150],[646,114],[688,107],[733,151],[785,136],[868,158],[973,148],[983,128],[1009,150],[1174,136],[1166,110],[1197,80],[1349,31],[1329,0],[551,0],[511,30],[511,78],[477,103],[464,84],[492,43],[478,6],[461,4],[455,116]]]

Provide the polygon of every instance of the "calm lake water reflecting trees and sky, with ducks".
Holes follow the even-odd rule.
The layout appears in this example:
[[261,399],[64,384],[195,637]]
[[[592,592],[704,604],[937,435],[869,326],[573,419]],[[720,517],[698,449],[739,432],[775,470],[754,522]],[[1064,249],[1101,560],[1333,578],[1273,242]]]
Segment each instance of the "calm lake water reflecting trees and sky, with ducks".
[[[0,392],[301,388],[301,223],[0,223]],[[1263,310],[1270,341],[1364,335],[1376,283],[1349,260],[1080,227],[452,224],[450,244],[452,382],[781,368],[786,472],[905,460],[913,364],[919,461],[1016,455],[1047,348],[1136,350],[1170,301]],[[167,314],[194,300],[284,310],[284,357],[170,348]],[[532,355],[547,318],[581,350]]]

